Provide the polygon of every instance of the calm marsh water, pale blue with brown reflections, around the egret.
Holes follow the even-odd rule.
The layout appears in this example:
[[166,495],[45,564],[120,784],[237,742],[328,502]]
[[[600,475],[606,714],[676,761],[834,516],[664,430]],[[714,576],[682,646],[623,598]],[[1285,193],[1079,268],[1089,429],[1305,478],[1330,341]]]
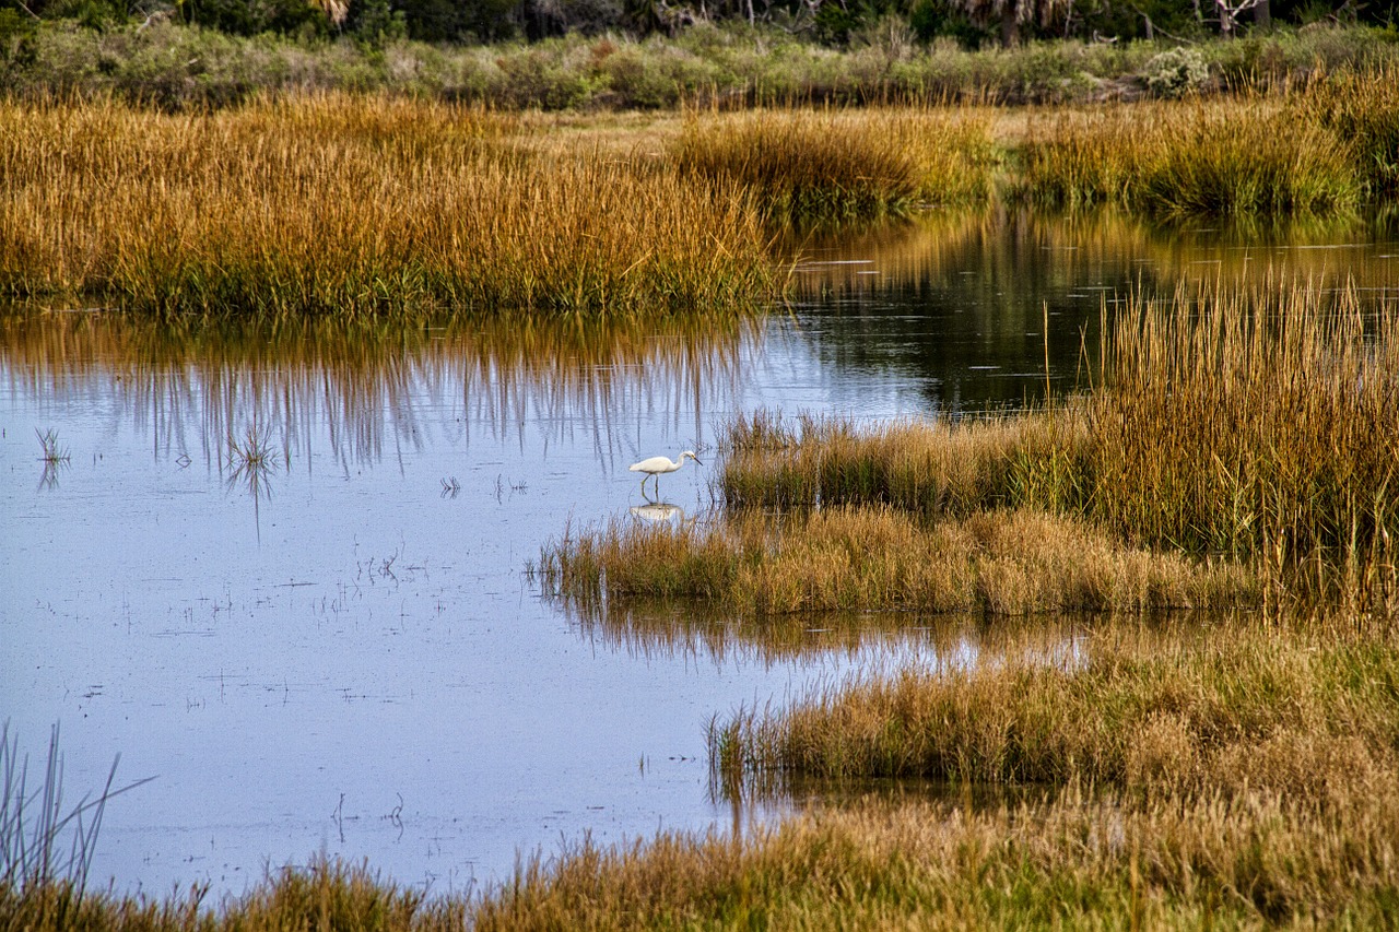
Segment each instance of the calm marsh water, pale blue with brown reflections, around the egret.
[[[711,505],[720,425],[758,407],[943,417],[1084,383],[1101,309],[1179,280],[1347,277],[1393,311],[1368,227],[1151,231],[929,217],[807,243],[751,327],[172,330],[0,316],[0,714],[70,799],[109,807],[94,872],[239,891],[318,851],[463,889],[590,833],[741,830],[713,714],[876,665],[968,665],[978,626],[722,612],[579,617],[527,572],[562,530],[644,505],[628,463]],[[45,467],[36,431],[64,462]],[[269,452],[249,465],[256,445]],[[635,515],[635,516],[634,516]],[[1072,630],[1053,640],[1072,649]]]

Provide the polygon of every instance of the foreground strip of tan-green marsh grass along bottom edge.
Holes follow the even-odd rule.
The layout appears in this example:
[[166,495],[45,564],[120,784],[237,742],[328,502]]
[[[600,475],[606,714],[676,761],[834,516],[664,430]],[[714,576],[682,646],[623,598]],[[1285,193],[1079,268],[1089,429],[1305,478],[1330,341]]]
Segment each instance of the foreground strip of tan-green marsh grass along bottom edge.
[[1060,793],[981,809],[855,803],[747,837],[666,831],[522,858],[478,898],[431,900],[364,865],[270,872],[204,905],[90,896],[56,922],[53,890],[0,887],[0,917],[35,932],[85,928],[651,929],[697,928],[1385,928],[1399,837],[1392,789],[1318,810],[1272,792],[1150,803]]

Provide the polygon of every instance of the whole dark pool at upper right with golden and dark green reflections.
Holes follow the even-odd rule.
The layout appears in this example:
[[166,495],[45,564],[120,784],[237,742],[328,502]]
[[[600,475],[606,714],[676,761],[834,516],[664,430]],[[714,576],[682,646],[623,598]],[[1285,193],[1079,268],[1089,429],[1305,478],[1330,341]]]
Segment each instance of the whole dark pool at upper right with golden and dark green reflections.
[[1323,302],[1357,297],[1370,313],[1392,312],[1392,235],[1382,221],[1161,225],[1111,210],[930,213],[792,243],[802,257],[789,292],[817,358],[867,378],[900,372],[919,386],[925,410],[957,418],[1090,388],[1104,322],[1182,288],[1297,283]]

